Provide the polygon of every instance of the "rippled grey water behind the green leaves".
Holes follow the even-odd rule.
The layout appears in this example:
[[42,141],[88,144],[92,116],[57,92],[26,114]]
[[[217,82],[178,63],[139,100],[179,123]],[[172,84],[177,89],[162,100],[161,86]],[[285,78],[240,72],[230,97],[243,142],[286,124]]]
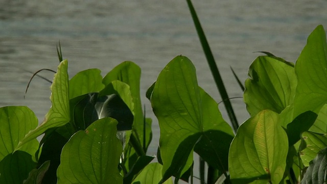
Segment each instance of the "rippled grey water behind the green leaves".
[[[294,62],[313,29],[319,24],[327,28],[325,0],[193,3],[229,97],[243,95],[230,66],[244,82],[260,55],[253,52],[268,51]],[[186,1],[0,0],[0,106],[26,105],[43,120],[51,106],[50,83],[35,78],[26,99],[24,93],[29,72],[57,70],[59,40],[71,77],[87,68],[100,68],[104,76],[125,60],[141,66],[142,102],[153,118],[150,155],[156,153],[159,129],[145,92],[171,59],[189,57],[199,85],[221,101]],[[41,75],[53,78],[50,72]],[[243,100],[231,101],[239,123],[244,122],[249,115]],[[229,122],[222,104],[220,109]]]

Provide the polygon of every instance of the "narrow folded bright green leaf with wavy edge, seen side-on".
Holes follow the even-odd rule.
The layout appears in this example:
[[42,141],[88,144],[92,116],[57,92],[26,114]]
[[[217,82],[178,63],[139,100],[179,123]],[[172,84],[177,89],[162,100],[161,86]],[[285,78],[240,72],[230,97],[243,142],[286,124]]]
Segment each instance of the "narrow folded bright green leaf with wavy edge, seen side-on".
[[68,61],[63,60],[58,66],[58,71],[55,74],[53,83],[51,85],[52,107],[45,115],[45,119],[40,126],[31,130],[23,140],[21,140],[15,150],[18,150],[22,145],[34,140],[37,136],[41,135],[53,127],[60,127],[68,123],[71,118],[69,116],[69,97],[68,97]]

